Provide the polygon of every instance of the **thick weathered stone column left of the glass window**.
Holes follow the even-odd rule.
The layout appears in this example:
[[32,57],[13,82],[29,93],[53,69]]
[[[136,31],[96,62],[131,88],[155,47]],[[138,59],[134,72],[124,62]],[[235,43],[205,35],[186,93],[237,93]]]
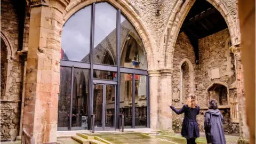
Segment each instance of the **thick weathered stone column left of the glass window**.
[[31,3],[23,127],[35,143],[57,142],[62,12],[69,1]]

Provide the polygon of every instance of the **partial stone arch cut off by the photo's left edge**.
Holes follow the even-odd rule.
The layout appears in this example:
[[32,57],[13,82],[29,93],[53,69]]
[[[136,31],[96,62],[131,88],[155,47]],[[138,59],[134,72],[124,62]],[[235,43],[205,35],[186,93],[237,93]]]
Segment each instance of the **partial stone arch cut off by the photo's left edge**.
[[2,49],[5,50],[6,55],[3,55],[4,62],[2,62],[1,54],[1,66],[3,66],[1,67],[1,99],[8,99],[6,91],[10,89],[10,84],[12,83],[10,71],[12,69],[13,47],[8,36],[1,30],[1,52]]

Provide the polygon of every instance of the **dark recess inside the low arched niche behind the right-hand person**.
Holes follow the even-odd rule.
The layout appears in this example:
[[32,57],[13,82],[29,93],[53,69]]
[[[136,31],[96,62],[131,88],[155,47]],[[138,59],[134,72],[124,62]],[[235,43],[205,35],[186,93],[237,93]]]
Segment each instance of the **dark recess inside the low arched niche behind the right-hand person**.
[[209,99],[215,99],[219,102],[219,106],[227,106],[228,105],[228,89],[227,86],[214,83],[208,89]]

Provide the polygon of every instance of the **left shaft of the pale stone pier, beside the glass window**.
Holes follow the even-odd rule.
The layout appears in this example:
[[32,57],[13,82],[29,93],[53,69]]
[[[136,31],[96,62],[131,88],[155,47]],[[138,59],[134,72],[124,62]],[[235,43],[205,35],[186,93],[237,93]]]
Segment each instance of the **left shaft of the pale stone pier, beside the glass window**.
[[150,94],[150,128],[158,130],[158,97],[159,97],[159,71],[148,70]]

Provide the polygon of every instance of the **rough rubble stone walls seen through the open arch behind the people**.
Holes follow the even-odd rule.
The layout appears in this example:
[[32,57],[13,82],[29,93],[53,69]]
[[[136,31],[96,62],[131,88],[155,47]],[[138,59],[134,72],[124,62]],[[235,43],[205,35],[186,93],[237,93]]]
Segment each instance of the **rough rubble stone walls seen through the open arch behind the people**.
[[[227,58],[226,53],[226,39],[229,36],[228,29],[219,31],[213,35],[199,39],[199,65],[195,65],[195,56],[193,47],[191,46],[187,36],[181,33],[177,38],[177,43],[175,45],[174,58],[173,58],[173,105],[175,107],[181,108],[182,103],[180,99],[181,86],[180,86],[180,64],[183,59],[188,59],[194,67],[195,75],[195,94],[198,96],[198,104],[201,108],[207,108],[207,100],[209,99],[209,94],[207,92],[207,87],[215,81],[223,82],[223,84],[228,85],[228,90],[230,88],[230,98],[234,98],[234,82],[235,82],[235,69],[234,57],[229,50],[230,58]],[[229,64],[230,65],[229,65]],[[219,78],[212,79],[212,70],[219,68]],[[230,73],[230,69],[233,70]],[[227,73],[229,72],[229,73]],[[185,78],[183,81],[190,81],[190,78]],[[185,86],[188,86],[186,84]],[[191,87],[191,86],[190,86]],[[232,89],[232,90],[231,90]],[[183,90],[189,91],[187,87],[183,87]],[[222,103],[227,103],[223,100]],[[205,113],[207,109],[201,109]],[[230,119],[230,109],[220,109],[225,122],[223,124],[224,131],[226,133],[239,133],[239,124],[231,123]],[[173,113],[173,130],[175,132],[180,132],[182,127],[183,114],[177,116]],[[197,116],[197,121],[199,124],[200,131],[204,131],[204,115],[199,114]]]

